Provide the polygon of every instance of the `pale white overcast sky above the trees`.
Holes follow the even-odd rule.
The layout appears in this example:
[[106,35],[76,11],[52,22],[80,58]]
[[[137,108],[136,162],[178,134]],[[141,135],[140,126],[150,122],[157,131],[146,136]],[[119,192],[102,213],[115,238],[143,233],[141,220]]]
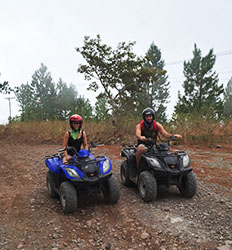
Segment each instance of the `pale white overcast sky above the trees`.
[[[84,61],[75,48],[83,45],[84,36],[100,34],[113,48],[136,41],[138,56],[154,42],[166,63],[171,114],[178,90],[183,91],[183,61],[192,58],[194,43],[203,56],[214,49],[220,83],[226,86],[231,78],[231,13],[231,0],[0,0],[0,82],[12,87],[31,82],[43,63],[55,82],[62,78],[76,85],[94,103],[95,94],[77,73]],[[0,123],[7,122],[5,98],[11,96],[0,94]],[[11,105],[15,116],[15,99]]]

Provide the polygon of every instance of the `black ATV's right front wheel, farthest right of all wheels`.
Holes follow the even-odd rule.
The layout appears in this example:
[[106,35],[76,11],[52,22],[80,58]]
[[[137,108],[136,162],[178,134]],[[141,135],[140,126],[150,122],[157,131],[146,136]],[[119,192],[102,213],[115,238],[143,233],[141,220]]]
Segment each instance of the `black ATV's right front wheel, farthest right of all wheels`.
[[184,197],[192,198],[197,193],[197,181],[195,174],[190,172],[185,175],[178,188]]

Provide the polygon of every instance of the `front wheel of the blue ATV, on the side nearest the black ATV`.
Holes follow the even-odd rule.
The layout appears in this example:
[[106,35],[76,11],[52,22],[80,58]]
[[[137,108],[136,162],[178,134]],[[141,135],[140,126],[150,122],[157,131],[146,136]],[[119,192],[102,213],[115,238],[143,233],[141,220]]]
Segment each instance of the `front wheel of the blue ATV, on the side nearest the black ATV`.
[[102,189],[105,201],[109,204],[116,203],[120,198],[120,191],[118,181],[114,175],[111,175],[109,179],[104,183]]

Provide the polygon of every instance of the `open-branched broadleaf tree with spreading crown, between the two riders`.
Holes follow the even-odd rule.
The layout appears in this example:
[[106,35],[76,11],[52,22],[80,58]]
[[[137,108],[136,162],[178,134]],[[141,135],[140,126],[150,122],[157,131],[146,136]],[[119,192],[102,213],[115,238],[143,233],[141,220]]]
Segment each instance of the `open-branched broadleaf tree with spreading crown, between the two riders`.
[[97,35],[96,39],[86,36],[84,46],[76,49],[86,60],[78,72],[91,81],[89,90],[101,90],[99,98],[106,98],[108,111],[116,120],[123,112],[136,111],[133,97],[141,89],[139,83],[154,81],[157,73],[155,68],[144,67],[147,60],[132,52],[134,45],[135,42],[121,42],[113,50],[102,44]]

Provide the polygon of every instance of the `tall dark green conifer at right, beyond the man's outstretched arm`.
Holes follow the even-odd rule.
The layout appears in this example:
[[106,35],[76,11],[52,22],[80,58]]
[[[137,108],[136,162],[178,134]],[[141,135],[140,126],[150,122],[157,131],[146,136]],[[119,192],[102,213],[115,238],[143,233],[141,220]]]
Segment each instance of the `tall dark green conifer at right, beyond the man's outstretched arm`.
[[[223,85],[218,85],[218,75],[213,71],[216,56],[213,49],[202,57],[194,45],[193,59],[184,62],[184,95],[178,95],[176,114],[198,112],[201,116],[219,118],[223,112]],[[207,111],[207,112],[206,112]]]

